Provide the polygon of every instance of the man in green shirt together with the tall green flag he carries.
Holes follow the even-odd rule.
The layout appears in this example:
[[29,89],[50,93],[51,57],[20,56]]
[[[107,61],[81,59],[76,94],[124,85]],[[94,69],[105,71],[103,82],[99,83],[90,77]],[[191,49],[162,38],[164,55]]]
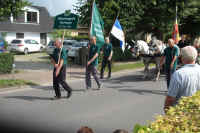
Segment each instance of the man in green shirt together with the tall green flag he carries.
[[90,27],[90,43],[89,43],[89,57],[87,59],[86,66],[86,89],[91,88],[91,74],[93,75],[98,89],[101,88],[102,84],[97,77],[97,68],[98,65],[98,56],[99,49],[104,44],[104,35],[103,35],[103,20],[100,16],[100,13],[96,7],[95,1],[92,6],[92,19],[91,19],[91,27]]

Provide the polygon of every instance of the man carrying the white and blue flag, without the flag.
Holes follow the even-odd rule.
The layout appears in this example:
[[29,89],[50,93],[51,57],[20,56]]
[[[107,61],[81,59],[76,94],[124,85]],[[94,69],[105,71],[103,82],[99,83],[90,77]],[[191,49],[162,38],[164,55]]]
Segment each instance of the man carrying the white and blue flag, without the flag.
[[108,64],[108,78],[111,77],[111,59],[113,55],[112,51],[112,44],[110,43],[109,37],[105,38],[105,44],[102,47],[103,51],[103,60],[102,60],[102,65],[101,65],[101,76],[100,78],[104,78],[104,70],[106,65]]

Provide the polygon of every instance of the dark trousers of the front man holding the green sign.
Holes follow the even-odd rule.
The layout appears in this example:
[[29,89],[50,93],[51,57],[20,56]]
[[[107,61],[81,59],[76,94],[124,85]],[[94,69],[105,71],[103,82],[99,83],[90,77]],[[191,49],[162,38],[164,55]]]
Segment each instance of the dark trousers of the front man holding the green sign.
[[63,67],[60,70],[59,75],[56,77],[56,68],[53,70],[53,88],[55,90],[55,94],[57,97],[61,97],[60,92],[60,85],[68,92],[70,93],[72,89],[69,87],[69,85],[66,83],[66,65],[63,65]]

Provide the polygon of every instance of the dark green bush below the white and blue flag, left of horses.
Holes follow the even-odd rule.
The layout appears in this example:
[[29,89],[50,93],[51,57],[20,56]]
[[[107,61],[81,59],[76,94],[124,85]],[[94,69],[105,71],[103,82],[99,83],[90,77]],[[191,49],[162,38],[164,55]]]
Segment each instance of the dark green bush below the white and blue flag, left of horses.
[[113,48],[113,61],[128,61],[132,59],[132,53],[129,49],[125,49],[124,52],[120,47]]

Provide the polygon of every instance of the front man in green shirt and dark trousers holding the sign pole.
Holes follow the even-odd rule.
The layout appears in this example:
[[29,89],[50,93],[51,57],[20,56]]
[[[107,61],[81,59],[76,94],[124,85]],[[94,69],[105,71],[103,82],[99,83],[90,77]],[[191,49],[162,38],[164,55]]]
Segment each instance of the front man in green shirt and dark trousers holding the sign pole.
[[[72,89],[66,83],[66,65],[67,65],[67,51],[65,48],[62,48],[60,40],[56,39],[55,49],[51,58],[51,62],[54,65],[53,70],[53,88],[55,90],[56,96],[53,99],[61,98],[60,86],[68,92],[67,98],[72,94]],[[61,51],[62,50],[62,51]],[[61,51],[61,52],[60,52]]]

